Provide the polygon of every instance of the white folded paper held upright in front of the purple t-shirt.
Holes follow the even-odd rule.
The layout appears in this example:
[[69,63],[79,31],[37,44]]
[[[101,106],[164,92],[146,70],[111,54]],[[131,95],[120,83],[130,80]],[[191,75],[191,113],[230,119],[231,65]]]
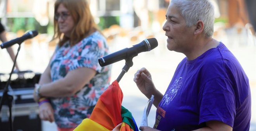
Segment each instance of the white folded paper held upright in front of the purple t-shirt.
[[146,107],[144,108],[140,126],[147,126],[147,116],[149,116],[149,111],[151,109],[153,102],[154,102],[154,95],[151,96],[151,98],[147,102]]

